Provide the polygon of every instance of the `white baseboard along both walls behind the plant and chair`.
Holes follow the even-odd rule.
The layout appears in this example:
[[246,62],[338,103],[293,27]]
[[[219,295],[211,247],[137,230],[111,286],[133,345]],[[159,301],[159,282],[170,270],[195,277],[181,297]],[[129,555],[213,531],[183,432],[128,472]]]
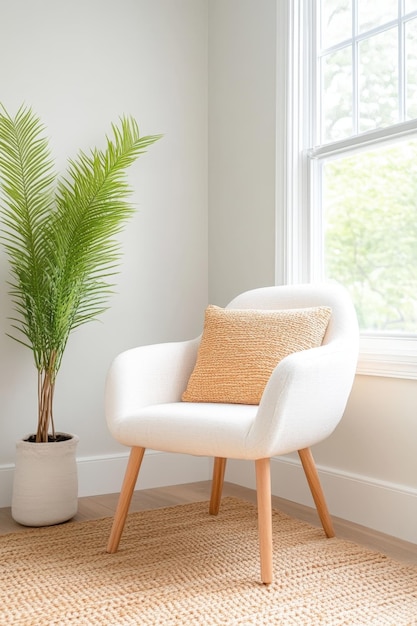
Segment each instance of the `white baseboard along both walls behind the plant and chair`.
[[[119,492],[127,458],[127,453],[79,458],[80,497]],[[211,467],[212,460],[206,457],[148,450],[137,489],[208,480]],[[319,466],[318,470],[331,515],[417,543],[416,490],[331,468]],[[13,472],[13,465],[0,466],[0,507],[11,504]],[[272,459],[271,478],[274,495],[314,506],[304,472],[297,460],[291,457]],[[229,460],[226,480],[255,489],[254,463]]]

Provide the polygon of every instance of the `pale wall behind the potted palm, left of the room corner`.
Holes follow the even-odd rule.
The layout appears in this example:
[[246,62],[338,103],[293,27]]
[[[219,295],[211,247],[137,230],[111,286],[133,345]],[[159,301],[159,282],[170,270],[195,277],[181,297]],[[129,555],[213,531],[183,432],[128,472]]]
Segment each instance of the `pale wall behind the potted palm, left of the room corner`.
[[[138,212],[122,235],[117,294],[101,323],[70,339],[55,421],[80,436],[80,458],[124,451],[107,433],[103,384],[124,348],[192,337],[207,304],[206,0],[13,0],[0,19],[0,101],[42,117],[60,169],[136,117],[164,138],[130,171]],[[36,428],[36,370],[6,337],[12,313],[0,256],[0,506],[15,441]],[[3,482],[2,482],[3,477]]]

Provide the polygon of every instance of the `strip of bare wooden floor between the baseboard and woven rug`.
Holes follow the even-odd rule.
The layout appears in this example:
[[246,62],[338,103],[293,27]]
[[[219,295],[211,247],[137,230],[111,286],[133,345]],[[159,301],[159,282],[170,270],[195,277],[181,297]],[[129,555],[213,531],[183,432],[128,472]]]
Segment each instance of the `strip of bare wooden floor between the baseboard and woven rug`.
[[[210,481],[204,481],[136,491],[132,498],[130,510],[143,511],[175,504],[208,500],[210,487]],[[255,491],[231,483],[225,483],[223,495],[256,502]],[[83,521],[112,516],[117,500],[118,494],[80,498],[78,513],[74,520]],[[320,526],[315,509],[290,502],[289,500],[283,500],[276,496],[273,496],[272,504],[274,508],[280,509],[292,517]],[[333,518],[333,523],[338,537],[361,543],[374,550],[379,550],[394,559],[417,565],[416,544],[401,541],[395,537],[390,537],[389,535],[384,535],[338,518]],[[25,530],[27,530],[27,527],[17,524],[12,519],[10,508],[0,509],[0,535],[10,532],[23,532]]]

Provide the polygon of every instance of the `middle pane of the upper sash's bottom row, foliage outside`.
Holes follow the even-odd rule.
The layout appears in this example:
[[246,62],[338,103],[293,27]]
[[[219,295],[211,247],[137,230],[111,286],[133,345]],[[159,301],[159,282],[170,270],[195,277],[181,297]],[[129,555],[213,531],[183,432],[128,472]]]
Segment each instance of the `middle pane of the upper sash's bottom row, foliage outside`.
[[399,122],[397,28],[359,43],[359,132]]

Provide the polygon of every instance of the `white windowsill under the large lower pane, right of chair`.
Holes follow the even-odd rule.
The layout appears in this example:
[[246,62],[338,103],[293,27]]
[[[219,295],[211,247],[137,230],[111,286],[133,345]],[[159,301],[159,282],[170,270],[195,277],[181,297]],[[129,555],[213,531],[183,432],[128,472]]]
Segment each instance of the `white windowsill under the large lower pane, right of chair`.
[[417,337],[362,336],[357,374],[417,380]]

